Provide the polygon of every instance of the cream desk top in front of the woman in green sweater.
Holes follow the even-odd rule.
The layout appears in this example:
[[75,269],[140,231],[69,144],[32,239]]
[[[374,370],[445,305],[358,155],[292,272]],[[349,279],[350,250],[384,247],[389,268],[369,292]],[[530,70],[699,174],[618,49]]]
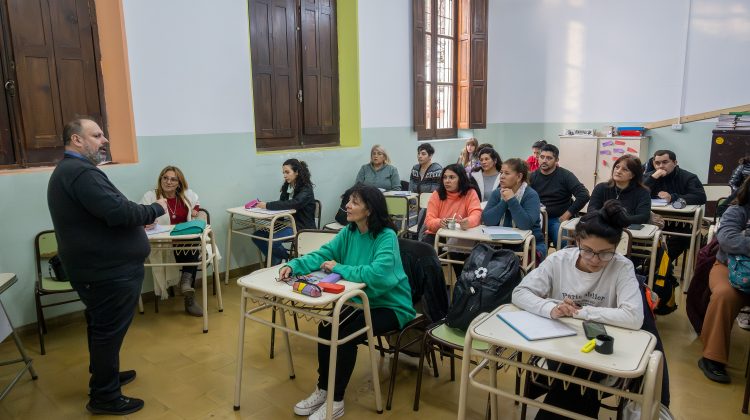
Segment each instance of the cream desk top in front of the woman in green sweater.
[[276,265],[273,267],[253,271],[246,276],[240,277],[237,280],[237,284],[248,289],[252,294],[255,295],[276,296],[282,299],[289,299],[310,306],[326,306],[337,301],[341,296],[345,295],[349,291],[362,290],[365,288],[364,283],[354,283],[346,280],[339,280],[336,284],[341,284],[345,287],[345,290],[342,293],[334,294],[323,292],[323,295],[317,298],[305,296],[301,293],[293,292],[292,287],[285,282],[276,280],[276,278],[279,276],[279,269],[281,267],[282,265]]

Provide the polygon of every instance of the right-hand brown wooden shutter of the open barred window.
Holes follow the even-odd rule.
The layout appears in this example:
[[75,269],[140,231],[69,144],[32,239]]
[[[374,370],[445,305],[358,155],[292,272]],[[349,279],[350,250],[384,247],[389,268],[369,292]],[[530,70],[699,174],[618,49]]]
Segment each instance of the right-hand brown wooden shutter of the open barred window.
[[487,0],[471,0],[469,128],[487,127]]

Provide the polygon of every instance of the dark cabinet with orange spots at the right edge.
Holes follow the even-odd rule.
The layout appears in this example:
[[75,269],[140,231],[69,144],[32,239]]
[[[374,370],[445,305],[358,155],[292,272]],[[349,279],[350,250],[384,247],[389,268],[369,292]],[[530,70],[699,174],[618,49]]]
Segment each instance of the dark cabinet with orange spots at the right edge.
[[750,131],[714,130],[711,137],[709,184],[728,184],[740,158],[750,154]]

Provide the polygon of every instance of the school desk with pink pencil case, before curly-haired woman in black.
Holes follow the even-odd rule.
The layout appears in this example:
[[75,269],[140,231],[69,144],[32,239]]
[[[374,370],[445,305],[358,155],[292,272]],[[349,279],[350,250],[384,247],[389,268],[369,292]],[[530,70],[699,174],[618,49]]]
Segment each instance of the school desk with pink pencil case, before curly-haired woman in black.
[[[272,264],[273,243],[294,239],[297,236],[297,224],[294,221],[296,210],[266,211],[262,209],[246,209],[233,207],[227,209],[229,224],[227,232],[227,265],[224,272],[224,284],[229,284],[229,263],[232,260],[232,234],[268,241],[266,253],[266,267]],[[273,234],[286,227],[292,228],[292,234],[281,238],[274,238]],[[257,230],[268,231],[268,237],[255,235]],[[249,232],[249,233],[248,233]],[[263,262],[263,255],[258,249],[258,259]]]

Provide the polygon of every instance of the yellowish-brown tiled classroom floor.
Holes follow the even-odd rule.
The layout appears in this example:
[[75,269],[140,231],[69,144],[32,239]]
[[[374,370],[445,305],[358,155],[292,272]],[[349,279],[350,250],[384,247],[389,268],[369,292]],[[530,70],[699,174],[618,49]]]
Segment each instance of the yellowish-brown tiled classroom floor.
[[[233,395],[239,321],[239,288],[224,286],[223,313],[209,301],[209,332],[201,331],[201,319],[183,312],[181,299],[162,302],[160,313],[146,304],[146,314],[136,314],[121,353],[122,368],[136,369],[138,377],[124,393],[146,401],[145,408],[126,418],[133,419],[284,419],[299,418],[293,404],[312,391],[316,379],[315,344],[292,339],[297,378],[288,378],[283,342],[277,341],[281,357],[270,360],[269,330],[248,324],[245,337],[244,380],[241,410],[234,411]],[[681,295],[682,296],[682,295]],[[29,297],[31,299],[31,297]],[[6,302],[6,305],[11,304]],[[677,312],[662,317],[658,325],[665,340],[672,390],[672,412],[682,419],[743,418],[740,412],[744,390],[744,369],[749,333],[735,328],[732,334],[731,385],[708,381],[696,366],[700,342],[690,328],[684,303]],[[307,322],[301,328],[314,331]],[[38,353],[35,335],[24,343],[34,358],[37,381],[24,376],[0,402],[0,419],[78,419],[88,417],[88,352],[82,317],[65,325],[54,325],[46,337],[47,355]],[[15,346],[0,344],[0,359],[15,357]],[[449,381],[448,362],[440,362],[441,375],[425,375],[420,411],[412,411],[416,367],[406,365],[397,378],[392,411],[378,415],[374,410],[372,383],[368,374],[367,351],[360,347],[359,361],[346,395],[345,418],[386,419],[418,415],[430,420],[456,417],[458,384]],[[460,365],[459,365],[460,366]],[[381,363],[383,398],[387,392],[388,362]],[[460,367],[459,367],[460,368]],[[16,367],[0,367],[0,386],[7,383]],[[501,382],[511,389],[514,375],[501,373]],[[486,395],[473,392],[469,417],[483,418]],[[602,410],[600,418],[612,413]],[[518,410],[501,401],[501,418],[517,418]]]

